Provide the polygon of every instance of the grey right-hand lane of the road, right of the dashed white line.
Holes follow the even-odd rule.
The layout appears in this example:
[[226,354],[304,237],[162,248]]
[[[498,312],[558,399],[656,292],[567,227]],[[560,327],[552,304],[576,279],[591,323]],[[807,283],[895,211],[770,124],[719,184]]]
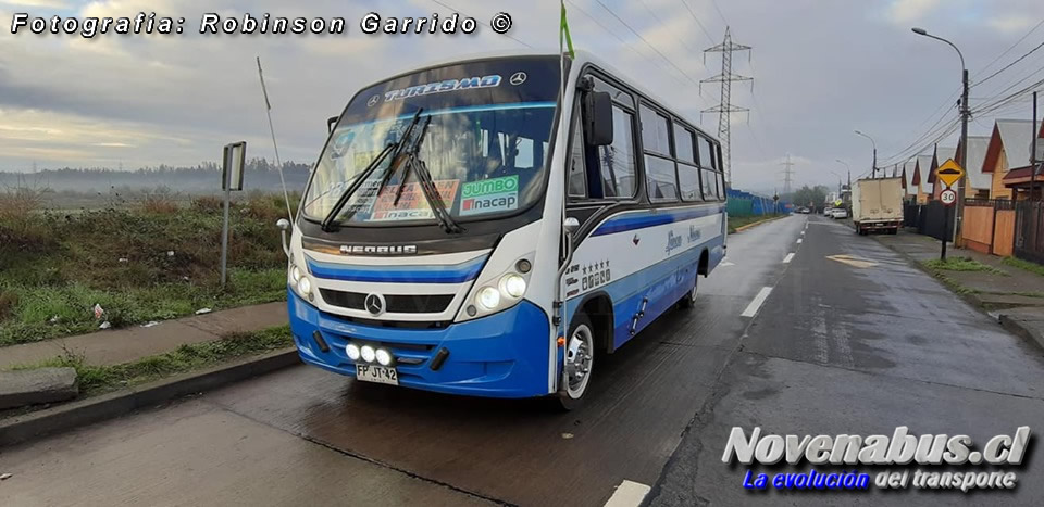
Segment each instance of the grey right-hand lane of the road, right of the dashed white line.
[[[1044,355],[873,238],[811,217],[805,241],[679,446],[654,506],[1039,505],[1044,465],[1005,467],[1015,492],[750,492],[759,471],[721,461],[733,427],[773,434],[968,434],[974,442],[1044,418]],[[818,467],[820,470],[829,467]],[[873,473],[886,467],[859,468]],[[984,467],[992,470],[990,467]]]

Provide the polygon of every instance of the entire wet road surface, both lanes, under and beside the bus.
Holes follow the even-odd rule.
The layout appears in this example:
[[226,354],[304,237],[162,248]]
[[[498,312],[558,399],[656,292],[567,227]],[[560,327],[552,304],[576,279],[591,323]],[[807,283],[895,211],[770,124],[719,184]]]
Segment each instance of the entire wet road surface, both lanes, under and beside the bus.
[[[842,224],[793,216],[733,235],[700,292],[599,359],[570,414],[301,366],[0,449],[14,473],[0,505],[600,506],[624,481],[651,486],[652,505],[868,503],[882,498],[748,493],[745,469],[721,462],[729,429],[907,424],[984,441],[1044,415],[1037,350]],[[1040,466],[1020,473],[1016,495],[975,500],[1039,499]]]

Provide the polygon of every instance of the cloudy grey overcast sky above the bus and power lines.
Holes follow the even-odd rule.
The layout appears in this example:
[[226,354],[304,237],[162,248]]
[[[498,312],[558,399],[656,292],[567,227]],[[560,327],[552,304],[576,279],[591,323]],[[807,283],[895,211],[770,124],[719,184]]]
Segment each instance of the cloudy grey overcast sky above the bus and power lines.
[[[716,86],[700,94],[694,81],[721,72],[719,55],[708,54],[705,66],[703,50],[721,41],[728,23],[735,42],[754,47],[749,62],[735,56],[734,72],[755,78],[753,93],[747,84],[733,88],[733,102],[751,109],[749,121],[733,117],[733,181],[769,192],[782,187],[788,153],[796,185],[836,185],[831,172],[844,174],[836,159],[852,165],[854,178],[870,167],[870,141],[854,129],[875,139],[883,163],[902,162],[896,157],[912,154],[906,148],[944,114],[956,117],[959,60],[911,26],[960,47],[973,83],[1044,42],[1041,26],[1016,45],[1044,20],[1040,0],[571,0],[567,9],[577,49],[600,55],[694,119],[718,101]],[[446,16],[455,10],[477,20],[474,35],[365,35],[358,24],[369,12]],[[10,33],[15,12],[139,11],[185,17],[186,33],[90,40]],[[511,14],[509,35],[518,40],[489,29],[500,11]],[[348,33],[199,36],[206,12],[343,16]],[[476,52],[523,43],[542,52],[558,48],[558,2],[548,0],[0,0],[0,170],[30,170],[34,163],[195,165],[216,160],[223,144],[239,139],[248,141],[250,156],[271,159],[256,55],[265,67],[281,154],[311,163],[325,140],[325,119],[361,86]],[[973,88],[972,106],[1041,78],[1044,49]],[[998,114],[1029,118],[1030,103]],[[993,119],[978,117],[971,134],[989,134]],[[940,125],[948,123],[949,116]],[[703,115],[701,126],[716,134],[718,117]],[[944,143],[955,144],[956,136]]]

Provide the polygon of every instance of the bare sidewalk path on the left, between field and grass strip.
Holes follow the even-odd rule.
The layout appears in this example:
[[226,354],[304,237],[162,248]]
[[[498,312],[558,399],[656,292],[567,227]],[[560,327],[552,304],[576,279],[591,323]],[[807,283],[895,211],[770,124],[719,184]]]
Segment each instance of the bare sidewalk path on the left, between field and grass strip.
[[232,332],[259,331],[286,322],[285,302],[245,306],[165,320],[150,328],[135,326],[5,346],[0,348],[0,370],[51,359],[63,355],[65,350],[83,354],[88,365],[117,365],[181,345],[217,340]]

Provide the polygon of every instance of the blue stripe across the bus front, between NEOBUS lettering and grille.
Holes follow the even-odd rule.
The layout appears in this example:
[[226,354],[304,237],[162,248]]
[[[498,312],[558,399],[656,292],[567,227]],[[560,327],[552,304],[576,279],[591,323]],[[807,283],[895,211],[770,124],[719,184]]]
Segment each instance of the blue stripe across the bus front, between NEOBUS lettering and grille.
[[462,283],[478,276],[488,255],[460,264],[425,266],[373,266],[315,261],[308,255],[308,270],[316,278],[343,281]]

